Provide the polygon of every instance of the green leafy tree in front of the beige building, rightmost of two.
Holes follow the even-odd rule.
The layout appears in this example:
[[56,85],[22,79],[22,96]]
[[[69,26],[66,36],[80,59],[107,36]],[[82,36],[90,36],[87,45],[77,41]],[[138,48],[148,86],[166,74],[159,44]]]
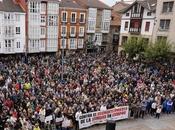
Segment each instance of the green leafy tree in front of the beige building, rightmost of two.
[[171,45],[167,40],[157,40],[155,43],[150,44],[144,53],[147,60],[164,60],[169,57],[171,51]]

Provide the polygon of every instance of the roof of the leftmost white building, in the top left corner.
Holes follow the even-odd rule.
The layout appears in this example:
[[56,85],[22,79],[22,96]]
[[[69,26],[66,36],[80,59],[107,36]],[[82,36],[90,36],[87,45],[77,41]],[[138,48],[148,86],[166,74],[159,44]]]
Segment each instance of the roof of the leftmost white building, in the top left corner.
[[0,11],[24,13],[20,5],[15,3],[13,0],[3,0],[0,2]]

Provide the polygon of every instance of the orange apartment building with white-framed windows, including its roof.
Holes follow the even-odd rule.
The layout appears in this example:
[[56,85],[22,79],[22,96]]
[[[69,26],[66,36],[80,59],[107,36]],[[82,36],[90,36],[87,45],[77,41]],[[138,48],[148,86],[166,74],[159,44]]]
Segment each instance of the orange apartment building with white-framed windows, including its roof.
[[59,11],[59,49],[65,52],[83,50],[87,10],[74,0],[62,0]]

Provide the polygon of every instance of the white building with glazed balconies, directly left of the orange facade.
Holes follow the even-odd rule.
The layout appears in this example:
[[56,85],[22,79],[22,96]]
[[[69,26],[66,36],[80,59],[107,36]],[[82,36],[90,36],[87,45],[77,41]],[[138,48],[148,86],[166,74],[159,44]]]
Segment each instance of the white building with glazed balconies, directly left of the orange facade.
[[58,51],[58,0],[18,0],[26,10],[28,53]]

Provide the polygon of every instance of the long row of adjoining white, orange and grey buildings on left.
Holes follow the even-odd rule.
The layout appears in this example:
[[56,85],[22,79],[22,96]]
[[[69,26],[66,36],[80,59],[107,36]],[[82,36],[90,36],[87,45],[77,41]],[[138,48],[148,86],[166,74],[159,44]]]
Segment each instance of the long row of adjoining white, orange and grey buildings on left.
[[99,0],[0,0],[0,54],[106,47],[110,20]]

